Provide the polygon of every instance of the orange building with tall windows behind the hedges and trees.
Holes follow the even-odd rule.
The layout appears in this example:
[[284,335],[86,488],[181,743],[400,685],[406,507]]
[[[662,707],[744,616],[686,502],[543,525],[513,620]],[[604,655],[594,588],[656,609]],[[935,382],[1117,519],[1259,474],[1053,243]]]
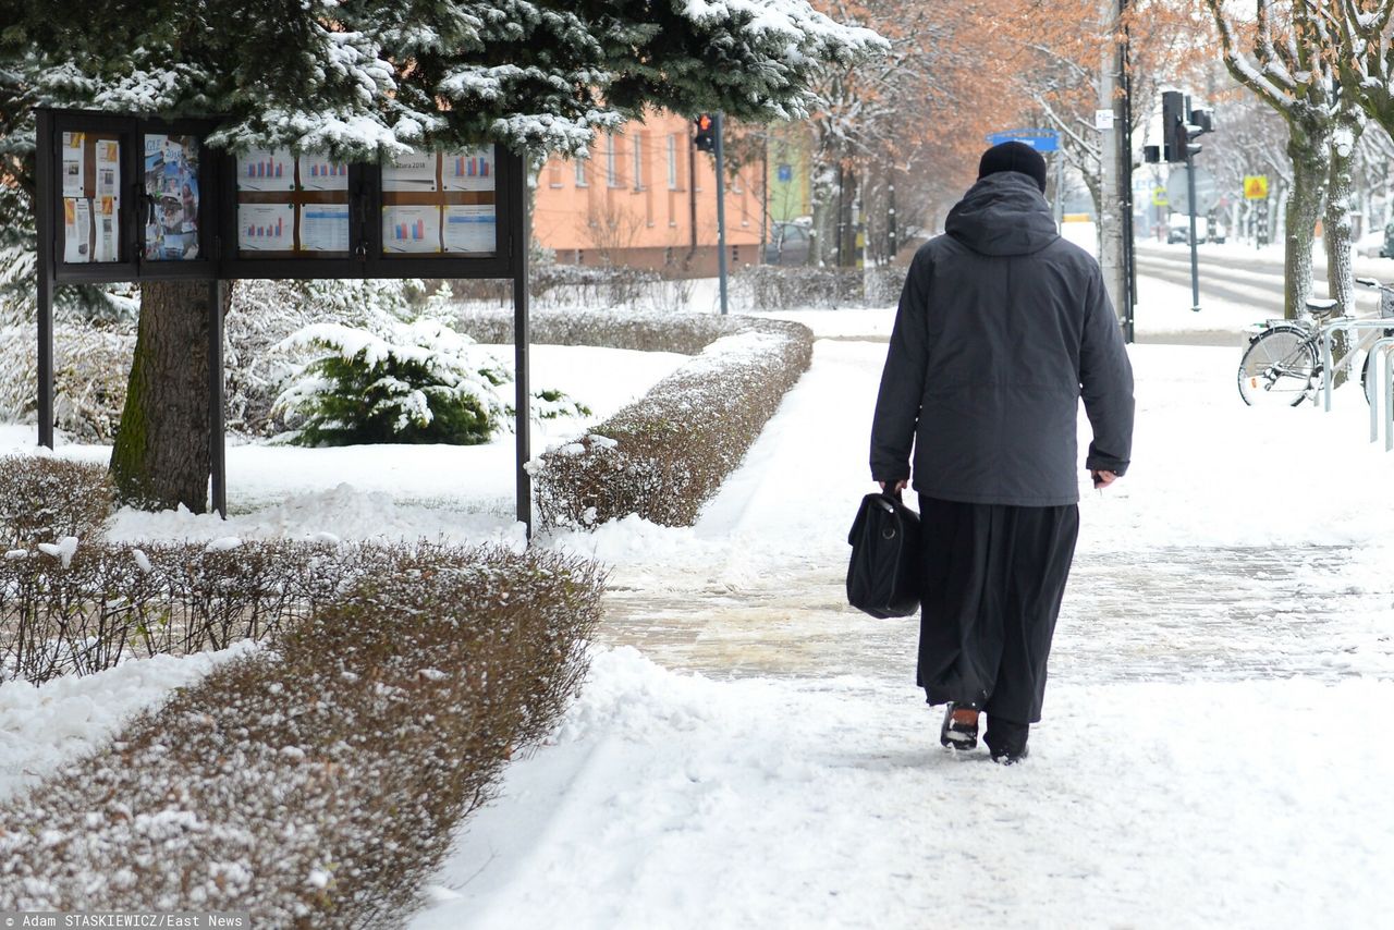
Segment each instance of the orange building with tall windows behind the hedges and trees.
[[[552,158],[538,177],[533,236],[556,261],[717,273],[715,159],[691,144],[690,120],[650,113],[595,137],[585,159]],[[760,261],[764,166],[726,183],[730,265]]]

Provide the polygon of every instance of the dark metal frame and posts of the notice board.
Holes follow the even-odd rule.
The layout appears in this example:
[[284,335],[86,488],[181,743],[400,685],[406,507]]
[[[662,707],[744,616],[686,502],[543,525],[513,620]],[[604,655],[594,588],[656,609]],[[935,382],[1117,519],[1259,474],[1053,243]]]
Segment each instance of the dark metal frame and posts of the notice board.
[[[226,425],[223,420],[223,318],[226,282],[236,279],[351,279],[351,277],[438,277],[512,279],[514,346],[514,434],[517,519],[533,533],[533,485],[526,464],[531,459],[528,436],[528,204],[524,156],[493,146],[495,251],[492,254],[386,255],[382,243],[385,206],[382,169],[376,163],[348,165],[348,257],[256,258],[238,251],[237,156],[210,149],[205,139],[219,120],[164,120],[158,116],[118,114],[102,110],[36,107],[35,174],[38,195],[38,363],[39,363],[39,445],[53,448],[54,357],[53,291],[59,284],[146,280],[206,280],[209,284],[209,424],[212,506],[227,516]],[[64,258],[66,204],[63,141],[66,132],[82,132],[120,141],[116,187],[114,230],[118,255],[113,261],[70,262]],[[145,187],[145,137],[191,135],[199,141],[198,205],[195,223],[197,258],[145,258],[146,226],[156,220],[156,205]],[[86,162],[81,162],[86,171]],[[99,171],[100,167],[96,166]],[[100,188],[98,188],[99,191]],[[98,192],[95,191],[95,192]],[[85,194],[85,190],[84,190]],[[99,197],[89,199],[96,209]],[[98,220],[99,222],[99,220]],[[98,226],[93,226],[96,230]],[[86,243],[95,248],[95,236]],[[88,252],[89,258],[92,252]]]

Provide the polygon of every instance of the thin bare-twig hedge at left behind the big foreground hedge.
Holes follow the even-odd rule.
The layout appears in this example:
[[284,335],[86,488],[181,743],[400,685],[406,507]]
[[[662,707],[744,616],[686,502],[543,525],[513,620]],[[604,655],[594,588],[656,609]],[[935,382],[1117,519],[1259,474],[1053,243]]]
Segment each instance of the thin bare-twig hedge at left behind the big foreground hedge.
[[128,657],[261,640],[314,616],[364,579],[449,561],[452,552],[230,537],[11,548],[0,561],[0,680],[38,685]]

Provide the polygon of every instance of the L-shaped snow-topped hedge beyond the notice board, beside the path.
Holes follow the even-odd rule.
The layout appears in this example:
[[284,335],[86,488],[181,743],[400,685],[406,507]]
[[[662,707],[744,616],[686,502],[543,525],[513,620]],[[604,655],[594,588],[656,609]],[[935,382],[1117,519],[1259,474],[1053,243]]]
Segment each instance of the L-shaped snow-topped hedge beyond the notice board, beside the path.
[[[512,340],[496,315],[488,319],[475,312],[461,325],[481,342]],[[544,526],[629,513],[696,523],[813,360],[807,326],[749,317],[539,314],[533,340],[700,353],[590,435],[531,464]]]

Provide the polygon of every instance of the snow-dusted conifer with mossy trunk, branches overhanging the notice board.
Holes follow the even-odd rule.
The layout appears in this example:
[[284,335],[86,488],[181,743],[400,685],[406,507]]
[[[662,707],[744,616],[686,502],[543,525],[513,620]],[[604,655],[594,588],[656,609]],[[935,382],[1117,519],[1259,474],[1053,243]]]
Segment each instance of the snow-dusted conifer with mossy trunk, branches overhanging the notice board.
[[[209,144],[231,149],[583,153],[645,105],[803,116],[821,67],[884,45],[806,0],[68,0],[61,15],[0,0],[0,173],[24,180],[35,102],[226,116]],[[142,289],[112,459],[127,499],[205,506],[206,300],[202,284]]]

